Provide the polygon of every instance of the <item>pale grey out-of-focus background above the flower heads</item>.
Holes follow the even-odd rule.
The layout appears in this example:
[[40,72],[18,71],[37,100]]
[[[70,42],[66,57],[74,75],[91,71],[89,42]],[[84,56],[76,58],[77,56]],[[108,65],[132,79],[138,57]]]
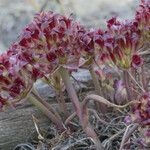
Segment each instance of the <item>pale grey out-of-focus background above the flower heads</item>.
[[92,28],[105,28],[112,16],[130,19],[140,0],[0,0],[0,53],[8,49],[22,28],[40,11],[55,11]]

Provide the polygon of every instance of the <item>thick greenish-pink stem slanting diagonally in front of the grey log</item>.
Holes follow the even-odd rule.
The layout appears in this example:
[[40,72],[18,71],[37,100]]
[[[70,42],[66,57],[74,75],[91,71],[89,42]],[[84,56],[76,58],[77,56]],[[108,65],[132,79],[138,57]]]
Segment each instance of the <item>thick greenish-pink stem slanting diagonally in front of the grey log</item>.
[[42,103],[40,103],[36,98],[30,96],[28,100],[39,110],[41,110],[60,130],[65,130],[63,122],[59,118],[57,118],[50,110],[48,110]]

